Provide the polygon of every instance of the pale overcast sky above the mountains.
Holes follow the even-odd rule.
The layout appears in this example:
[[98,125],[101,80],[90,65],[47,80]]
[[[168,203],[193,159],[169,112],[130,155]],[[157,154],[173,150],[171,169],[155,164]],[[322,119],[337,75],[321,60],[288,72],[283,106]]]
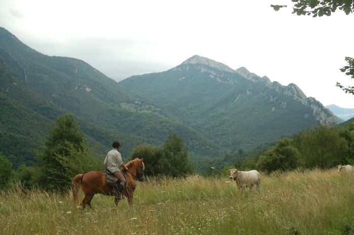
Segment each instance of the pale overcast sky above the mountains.
[[[274,11],[271,4],[287,5]],[[0,0],[0,26],[32,49],[83,60],[120,81],[199,55],[295,83],[323,105],[354,108],[339,69],[354,57],[354,14],[291,14],[291,0]]]

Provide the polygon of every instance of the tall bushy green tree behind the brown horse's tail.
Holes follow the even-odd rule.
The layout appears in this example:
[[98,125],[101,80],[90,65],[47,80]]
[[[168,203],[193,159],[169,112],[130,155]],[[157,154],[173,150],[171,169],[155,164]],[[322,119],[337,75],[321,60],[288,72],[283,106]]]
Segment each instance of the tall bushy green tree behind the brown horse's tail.
[[38,154],[40,182],[47,190],[65,191],[81,171],[85,139],[72,114],[64,114],[52,125],[45,147]]

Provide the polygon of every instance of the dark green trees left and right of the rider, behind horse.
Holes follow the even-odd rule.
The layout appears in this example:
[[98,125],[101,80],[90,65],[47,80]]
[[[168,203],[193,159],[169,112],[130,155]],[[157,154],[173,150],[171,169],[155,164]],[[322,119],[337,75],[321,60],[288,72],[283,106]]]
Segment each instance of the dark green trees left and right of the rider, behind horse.
[[[128,160],[137,157],[144,157],[147,175],[177,177],[193,172],[187,147],[175,133],[168,135],[161,147],[146,144],[135,147]],[[12,163],[0,154],[0,189],[5,189],[14,179],[29,189],[40,187],[50,192],[66,192],[76,174],[104,170],[103,160],[104,155],[95,153],[87,145],[74,116],[64,114],[53,122],[45,145],[36,155],[35,166],[22,164],[14,171]]]

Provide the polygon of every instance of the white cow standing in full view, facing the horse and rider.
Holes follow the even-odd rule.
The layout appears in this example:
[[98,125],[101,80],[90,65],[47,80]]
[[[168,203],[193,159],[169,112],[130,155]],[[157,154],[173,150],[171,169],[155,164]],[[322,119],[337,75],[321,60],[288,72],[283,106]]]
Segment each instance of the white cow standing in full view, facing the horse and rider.
[[237,169],[230,169],[228,172],[230,173],[230,179],[234,179],[236,181],[238,189],[249,187],[249,190],[251,191],[252,186],[256,185],[259,192],[260,174],[258,171],[239,171]]

